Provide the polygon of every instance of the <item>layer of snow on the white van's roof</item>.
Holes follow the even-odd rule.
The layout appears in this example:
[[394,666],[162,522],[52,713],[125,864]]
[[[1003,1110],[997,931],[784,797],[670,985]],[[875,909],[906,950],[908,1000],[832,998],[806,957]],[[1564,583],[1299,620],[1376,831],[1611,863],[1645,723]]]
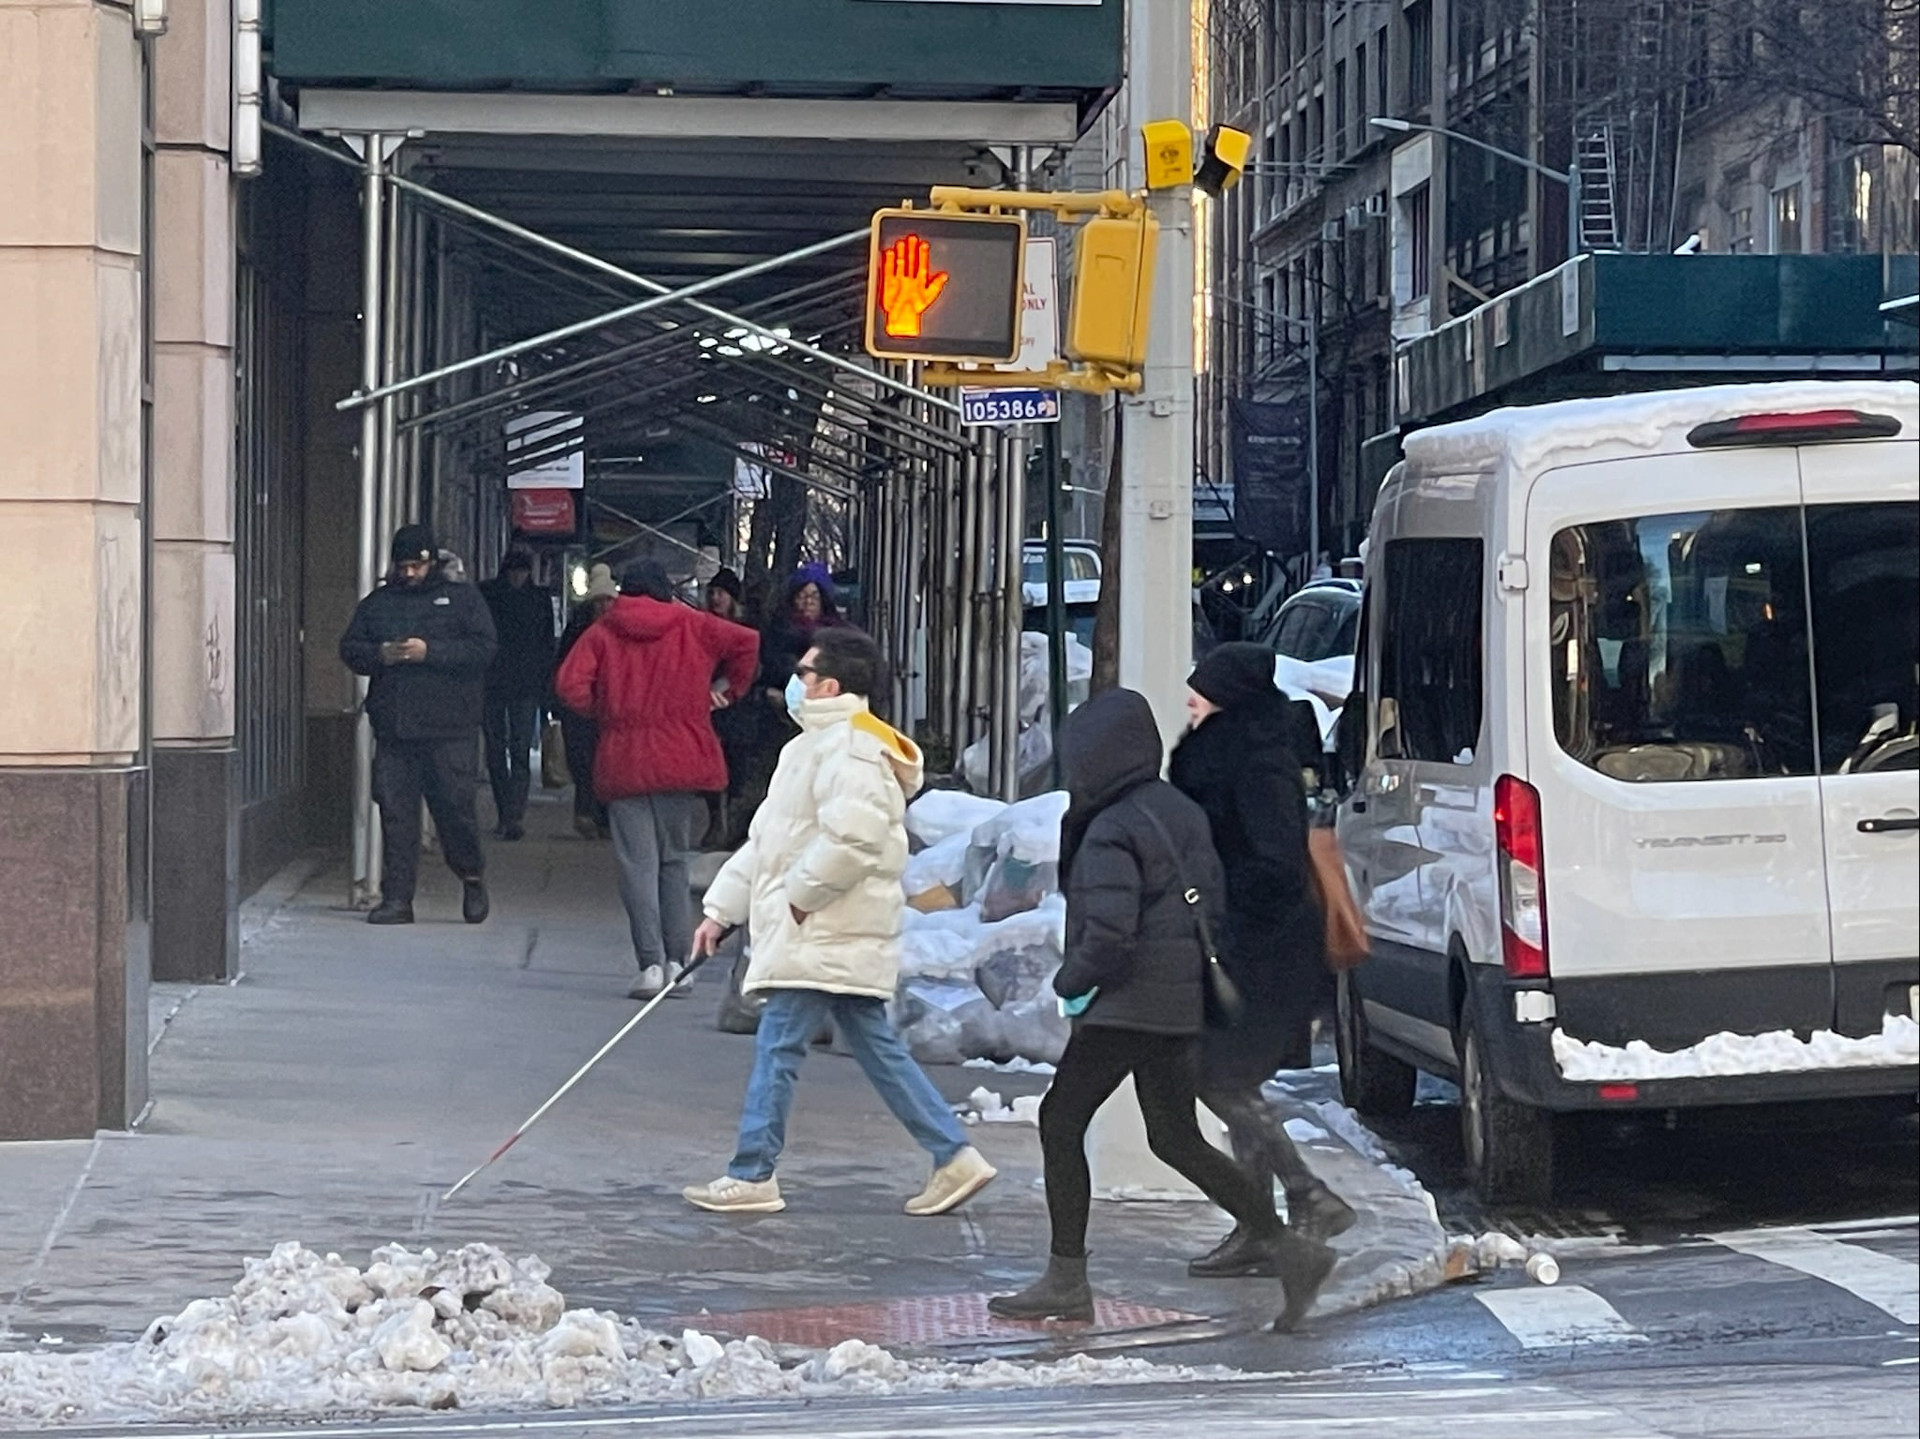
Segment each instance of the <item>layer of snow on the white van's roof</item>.
[[1517,469],[1578,465],[1636,453],[1686,450],[1695,425],[1740,415],[1797,409],[1891,413],[1901,438],[1920,430],[1920,384],[1912,380],[1780,380],[1655,390],[1549,405],[1511,405],[1455,425],[1415,430],[1405,440],[1409,469],[1480,471],[1505,459]]

